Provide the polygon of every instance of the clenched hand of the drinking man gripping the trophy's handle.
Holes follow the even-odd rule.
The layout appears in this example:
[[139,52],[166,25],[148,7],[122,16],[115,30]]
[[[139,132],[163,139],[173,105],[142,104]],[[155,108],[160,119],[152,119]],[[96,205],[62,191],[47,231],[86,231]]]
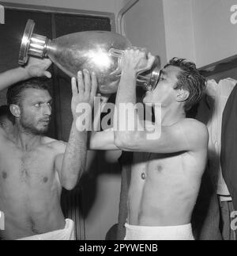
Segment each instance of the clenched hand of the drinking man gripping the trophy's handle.
[[134,71],[136,75],[148,71],[154,63],[155,56],[145,48],[128,48],[123,52],[122,71]]

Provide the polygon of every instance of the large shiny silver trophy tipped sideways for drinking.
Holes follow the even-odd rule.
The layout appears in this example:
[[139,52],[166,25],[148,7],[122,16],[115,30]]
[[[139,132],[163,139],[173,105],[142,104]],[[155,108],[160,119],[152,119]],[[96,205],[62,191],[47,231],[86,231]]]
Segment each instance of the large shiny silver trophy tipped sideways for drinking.
[[[19,64],[28,61],[28,55],[48,56],[57,67],[70,77],[77,71],[95,71],[99,90],[103,94],[115,93],[121,75],[122,52],[132,44],[115,32],[75,32],[54,40],[33,33],[35,22],[28,20],[21,40]],[[156,86],[160,76],[160,57],[156,56],[150,71],[137,76],[137,84],[145,89]]]

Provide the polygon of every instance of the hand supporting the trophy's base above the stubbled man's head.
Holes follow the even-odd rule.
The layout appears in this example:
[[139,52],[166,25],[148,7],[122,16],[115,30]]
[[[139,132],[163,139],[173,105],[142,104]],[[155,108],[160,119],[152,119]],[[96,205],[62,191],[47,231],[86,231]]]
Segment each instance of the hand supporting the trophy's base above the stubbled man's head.
[[47,69],[51,66],[51,59],[40,59],[30,57],[27,65],[24,67],[27,71],[28,78],[46,76],[51,78],[51,73]]

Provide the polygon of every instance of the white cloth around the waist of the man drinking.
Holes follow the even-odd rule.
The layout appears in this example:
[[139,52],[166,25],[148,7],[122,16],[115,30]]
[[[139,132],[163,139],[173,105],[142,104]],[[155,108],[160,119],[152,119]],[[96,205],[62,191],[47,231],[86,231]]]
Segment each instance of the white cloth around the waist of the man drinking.
[[182,226],[146,227],[125,224],[124,240],[194,240],[191,224]]

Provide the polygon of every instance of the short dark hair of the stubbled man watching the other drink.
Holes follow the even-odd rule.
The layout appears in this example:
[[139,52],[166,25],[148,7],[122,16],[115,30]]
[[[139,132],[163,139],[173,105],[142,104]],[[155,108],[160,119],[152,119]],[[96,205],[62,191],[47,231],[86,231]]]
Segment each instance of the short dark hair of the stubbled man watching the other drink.
[[6,93],[7,104],[21,104],[21,94],[25,89],[49,90],[49,80],[47,78],[30,78],[23,82],[17,82],[10,86]]

